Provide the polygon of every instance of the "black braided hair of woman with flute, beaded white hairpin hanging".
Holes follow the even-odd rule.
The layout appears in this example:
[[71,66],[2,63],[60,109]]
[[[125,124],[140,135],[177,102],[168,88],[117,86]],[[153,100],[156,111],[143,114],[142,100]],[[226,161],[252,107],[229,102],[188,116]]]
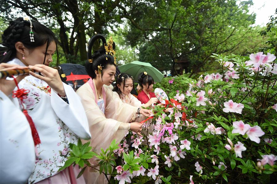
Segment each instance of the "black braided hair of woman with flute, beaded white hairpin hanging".
[[[16,57],[15,43],[22,42],[27,49],[35,49],[36,47],[42,46],[47,43],[46,52],[48,46],[52,41],[56,43],[56,52],[57,52],[57,64],[59,62],[59,54],[57,49],[58,40],[55,37],[55,34],[46,26],[42,25],[39,22],[32,21],[34,40],[35,42],[30,41],[30,21],[24,20],[22,17],[17,18],[14,21],[10,21],[9,27],[4,30],[2,35],[2,45],[6,47],[4,50],[6,53],[0,59],[0,63],[9,62]],[[1,53],[2,54],[2,53]],[[46,54],[44,56],[45,62]],[[44,64],[43,62],[43,64]]]

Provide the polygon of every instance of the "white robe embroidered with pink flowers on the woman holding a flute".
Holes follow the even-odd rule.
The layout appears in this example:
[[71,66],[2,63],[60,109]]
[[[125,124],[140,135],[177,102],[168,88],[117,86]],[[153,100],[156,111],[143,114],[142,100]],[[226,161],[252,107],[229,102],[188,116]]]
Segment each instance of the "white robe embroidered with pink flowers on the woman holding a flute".
[[[25,66],[17,58],[8,63]],[[29,178],[29,183],[36,183],[58,174],[59,167],[67,160],[69,143],[77,143],[78,138],[88,140],[91,135],[79,96],[69,85],[63,83],[68,103],[55,90],[50,90],[46,82],[31,75],[18,86],[30,90],[23,102],[41,141],[37,145],[35,169]]]

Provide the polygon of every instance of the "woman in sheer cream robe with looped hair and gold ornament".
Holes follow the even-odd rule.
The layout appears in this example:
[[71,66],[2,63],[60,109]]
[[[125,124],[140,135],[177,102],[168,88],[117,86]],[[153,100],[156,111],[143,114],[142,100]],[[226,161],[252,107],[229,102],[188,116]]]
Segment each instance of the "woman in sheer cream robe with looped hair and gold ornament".
[[[92,55],[93,43],[101,39],[103,45]],[[88,43],[88,61],[86,70],[91,79],[77,90],[88,118],[91,144],[93,151],[106,150],[112,140],[120,142],[129,130],[141,135],[139,122],[132,122],[136,114],[149,116],[151,111],[123,103],[113,94],[109,86],[115,80],[116,60],[115,43],[112,37],[106,43],[103,35],[94,35]],[[132,122],[132,123],[129,123]],[[84,141],[86,142],[86,141]],[[93,159],[91,160],[93,162]],[[86,169],[84,178],[87,183],[108,183],[104,174],[97,170]]]

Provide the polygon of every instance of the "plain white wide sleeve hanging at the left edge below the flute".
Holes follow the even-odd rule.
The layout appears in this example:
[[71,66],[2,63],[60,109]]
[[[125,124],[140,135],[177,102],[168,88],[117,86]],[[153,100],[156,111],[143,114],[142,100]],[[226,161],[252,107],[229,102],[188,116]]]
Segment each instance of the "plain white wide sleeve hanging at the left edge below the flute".
[[0,92],[0,183],[26,183],[35,168],[35,145],[29,122]]

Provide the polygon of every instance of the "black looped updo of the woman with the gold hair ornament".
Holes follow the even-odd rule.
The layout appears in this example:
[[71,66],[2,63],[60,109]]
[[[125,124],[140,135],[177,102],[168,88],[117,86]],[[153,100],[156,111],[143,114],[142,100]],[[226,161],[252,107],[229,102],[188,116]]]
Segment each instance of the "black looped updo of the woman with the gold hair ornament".
[[[92,46],[93,46],[94,42],[97,41],[97,39],[101,39],[103,45],[99,48],[99,50],[96,50],[92,54]],[[111,54],[106,54],[106,50],[104,48],[105,44],[106,44],[106,39],[101,34],[96,34],[96,35],[92,36],[92,38],[88,42],[88,53],[87,53],[88,61],[86,62],[85,67],[86,67],[86,71],[87,71],[88,75],[91,78],[96,78],[95,70],[98,70],[99,65],[102,66],[101,79],[103,77],[103,70],[105,70],[108,65],[116,66],[114,63],[113,56]],[[115,50],[116,46],[115,46],[114,42],[113,42],[112,47]],[[89,62],[89,60],[92,60],[92,63]],[[103,81],[103,79],[102,79],[102,81]]]

